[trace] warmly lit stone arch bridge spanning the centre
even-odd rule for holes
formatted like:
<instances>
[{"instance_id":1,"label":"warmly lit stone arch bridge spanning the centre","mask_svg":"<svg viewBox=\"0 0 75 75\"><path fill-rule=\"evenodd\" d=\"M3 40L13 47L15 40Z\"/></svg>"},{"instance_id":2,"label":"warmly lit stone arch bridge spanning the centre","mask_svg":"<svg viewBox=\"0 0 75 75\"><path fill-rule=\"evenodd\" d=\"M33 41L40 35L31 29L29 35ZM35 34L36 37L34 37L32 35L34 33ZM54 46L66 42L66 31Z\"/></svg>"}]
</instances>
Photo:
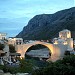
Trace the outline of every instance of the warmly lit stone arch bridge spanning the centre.
<instances>
[{"instance_id":1,"label":"warmly lit stone arch bridge spanning the centre","mask_svg":"<svg viewBox=\"0 0 75 75\"><path fill-rule=\"evenodd\" d=\"M55 61L59 59L61 52L59 47L55 46L54 44L47 43L47 42L41 42L41 41L35 41L33 43L27 43L27 44L22 44L22 45L16 45L16 51L17 53L21 54L21 57L25 56L26 51L33 45L41 44L46 46L50 52L51 52L51 60Z\"/></svg>"}]
</instances>

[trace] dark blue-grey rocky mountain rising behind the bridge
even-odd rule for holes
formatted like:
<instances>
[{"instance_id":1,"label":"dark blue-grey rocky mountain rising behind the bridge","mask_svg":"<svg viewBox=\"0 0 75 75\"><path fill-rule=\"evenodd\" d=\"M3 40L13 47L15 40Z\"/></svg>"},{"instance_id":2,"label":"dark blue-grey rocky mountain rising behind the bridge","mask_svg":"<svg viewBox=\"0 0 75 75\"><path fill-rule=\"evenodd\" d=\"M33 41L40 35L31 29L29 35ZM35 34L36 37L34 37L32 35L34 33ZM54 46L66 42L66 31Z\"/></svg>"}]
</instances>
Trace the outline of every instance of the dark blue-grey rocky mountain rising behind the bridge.
<instances>
[{"instance_id":1,"label":"dark blue-grey rocky mountain rising behind the bridge","mask_svg":"<svg viewBox=\"0 0 75 75\"><path fill-rule=\"evenodd\" d=\"M75 35L75 7L54 14L34 16L16 36L25 40L46 40L58 36L58 32L69 29Z\"/></svg>"}]
</instances>

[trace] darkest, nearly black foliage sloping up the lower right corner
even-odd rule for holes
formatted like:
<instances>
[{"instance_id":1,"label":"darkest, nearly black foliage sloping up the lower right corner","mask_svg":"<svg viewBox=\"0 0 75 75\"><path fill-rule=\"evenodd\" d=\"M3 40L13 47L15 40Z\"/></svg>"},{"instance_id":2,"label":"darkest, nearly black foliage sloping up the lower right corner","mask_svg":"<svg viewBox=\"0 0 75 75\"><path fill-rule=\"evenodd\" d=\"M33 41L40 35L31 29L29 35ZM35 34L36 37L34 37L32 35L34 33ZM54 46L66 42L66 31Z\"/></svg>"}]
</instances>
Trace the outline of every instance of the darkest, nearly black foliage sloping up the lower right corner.
<instances>
[{"instance_id":1,"label":"darkest, nearly black foliage sloping up the lower right corner","mask_svg":"<svg viewBox=\"0 0 75 75\"><path fill-rule=\"evenodd\" d=\"M62 60L32 72L32 75L75 75L75 56L65 56Z\"/></svg>"}]
</instances>

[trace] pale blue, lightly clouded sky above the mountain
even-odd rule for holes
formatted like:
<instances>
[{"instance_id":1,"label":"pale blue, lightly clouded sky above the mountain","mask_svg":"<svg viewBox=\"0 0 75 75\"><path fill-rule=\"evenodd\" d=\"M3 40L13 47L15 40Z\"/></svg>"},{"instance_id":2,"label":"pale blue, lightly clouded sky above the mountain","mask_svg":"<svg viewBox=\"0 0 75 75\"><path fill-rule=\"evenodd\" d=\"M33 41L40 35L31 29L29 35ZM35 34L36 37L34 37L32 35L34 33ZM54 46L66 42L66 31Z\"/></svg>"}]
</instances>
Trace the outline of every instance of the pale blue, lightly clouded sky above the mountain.
<instances>
[{"instance_id":1,"label":"pale blue, lightly clouded sky above the mountain","mask_svg":"<svg viewBox=\"0 0 75 75\"><path fill-rule=\"evenodd\" d=\"M0 0L0 32L14 37L38 14L53 14L75 6L75 0Z\"/></svg>"}]
</instances>

